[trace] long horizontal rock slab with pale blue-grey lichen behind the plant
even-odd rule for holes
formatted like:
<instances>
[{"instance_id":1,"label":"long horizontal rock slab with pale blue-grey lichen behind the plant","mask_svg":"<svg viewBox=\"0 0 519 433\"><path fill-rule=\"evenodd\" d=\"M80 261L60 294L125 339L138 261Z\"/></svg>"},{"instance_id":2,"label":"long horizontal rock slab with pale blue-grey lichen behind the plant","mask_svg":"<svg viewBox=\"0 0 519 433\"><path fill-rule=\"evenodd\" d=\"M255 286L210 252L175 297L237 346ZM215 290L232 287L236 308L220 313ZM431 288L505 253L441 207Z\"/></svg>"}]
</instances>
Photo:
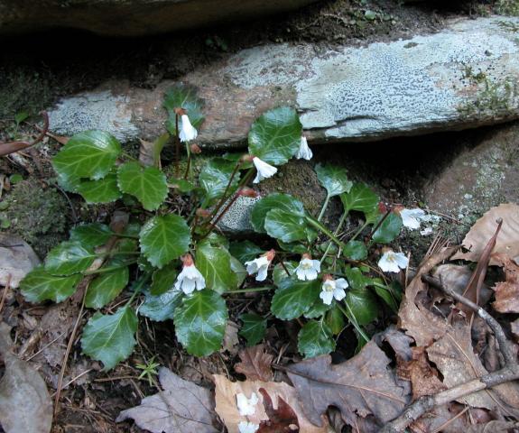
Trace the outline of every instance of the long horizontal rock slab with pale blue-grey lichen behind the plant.
<instances>
[{"instance_id":1,"label":"long horizontal rock slab with pale blue-grey lichen behind the plant","mask_svg":"<svg viewBox=\"0 0 519 433\"><path fill-rule=\"evenodd\" d=\"M519 117L517 28L519 18L490 17L366 47L265 45L181 81L196 86L206 101L199 143L207 146L243 145L255 117L281 104L298 107L310 143L460 130ZM126 140L152 139L163 131L162 95L171 84L150 91L108 83L62 101L51 112L51 128L74 134L109 127ZM99 105L107 113L102 122L95 115ZM79 123L69 120L78 117Z\"/></svg>"}]
</instances>

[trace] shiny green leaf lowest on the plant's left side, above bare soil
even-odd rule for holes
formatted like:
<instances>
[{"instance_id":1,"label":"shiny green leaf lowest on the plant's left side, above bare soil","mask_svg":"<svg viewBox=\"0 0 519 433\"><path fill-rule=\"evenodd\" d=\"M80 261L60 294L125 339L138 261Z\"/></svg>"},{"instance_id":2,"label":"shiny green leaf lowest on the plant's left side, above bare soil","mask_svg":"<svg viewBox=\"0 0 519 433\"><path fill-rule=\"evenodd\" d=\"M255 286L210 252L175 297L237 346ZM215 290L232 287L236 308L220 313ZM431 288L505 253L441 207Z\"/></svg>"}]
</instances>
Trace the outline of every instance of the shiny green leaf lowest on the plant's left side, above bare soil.
<instances>
[{"instance_id":1,"label":"shiny green leaf lowest on the plant's left side, above bare soil","mask_svg":"<svg viewBox=\"0 0 519 433\"><path fill-rule=\"evenodd\" d=\"M115 314L97 312L83 329L83 353L104 364L103 371L132 355L137 331L137 315L130 306L117 309Z\"/></svg>"}]
</instances>

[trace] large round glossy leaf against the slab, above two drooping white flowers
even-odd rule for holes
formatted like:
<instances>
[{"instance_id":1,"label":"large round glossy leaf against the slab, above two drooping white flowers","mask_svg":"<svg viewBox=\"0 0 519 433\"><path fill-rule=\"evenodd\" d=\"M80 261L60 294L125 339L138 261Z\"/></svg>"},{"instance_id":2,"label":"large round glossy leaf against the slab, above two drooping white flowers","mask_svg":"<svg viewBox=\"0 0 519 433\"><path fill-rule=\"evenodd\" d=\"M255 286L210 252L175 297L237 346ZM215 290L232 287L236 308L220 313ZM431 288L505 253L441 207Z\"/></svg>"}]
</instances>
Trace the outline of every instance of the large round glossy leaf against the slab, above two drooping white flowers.
<instances>
[{"instance_id":1,"label":"large round glossy leaf against the slab, above two drooping white flowers","mask_svg":"<svg viewBox=\"0 0 519 433\"><path fill-rule=\"evenodd\" d=\"M281 106L257 118L248 136L249 153L261 160L282 165L301 144L302 125L293 108Z\"/></svg>"}]
</instances>

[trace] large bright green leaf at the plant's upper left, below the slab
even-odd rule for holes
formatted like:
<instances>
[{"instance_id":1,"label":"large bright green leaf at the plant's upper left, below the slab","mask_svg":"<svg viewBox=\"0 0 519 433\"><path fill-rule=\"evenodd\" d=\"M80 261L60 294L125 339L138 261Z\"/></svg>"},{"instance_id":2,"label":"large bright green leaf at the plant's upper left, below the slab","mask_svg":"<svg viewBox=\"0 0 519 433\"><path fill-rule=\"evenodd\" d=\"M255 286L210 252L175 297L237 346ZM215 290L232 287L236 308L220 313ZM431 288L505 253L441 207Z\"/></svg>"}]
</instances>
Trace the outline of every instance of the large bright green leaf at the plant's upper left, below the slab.
<instances>
[{"instance_id":1,"label":"large bright green leaf at the plant's upper left, below the slab","mask_svg":"<svg viewBox=\"0 0 519 433\"><path fill-rule=\"evenodd\" d=\"M103 131L85 131L70 138L52 159L52 166L65 178L104 178L121 154L121 143Z\"/></svg>"}]
</instances>

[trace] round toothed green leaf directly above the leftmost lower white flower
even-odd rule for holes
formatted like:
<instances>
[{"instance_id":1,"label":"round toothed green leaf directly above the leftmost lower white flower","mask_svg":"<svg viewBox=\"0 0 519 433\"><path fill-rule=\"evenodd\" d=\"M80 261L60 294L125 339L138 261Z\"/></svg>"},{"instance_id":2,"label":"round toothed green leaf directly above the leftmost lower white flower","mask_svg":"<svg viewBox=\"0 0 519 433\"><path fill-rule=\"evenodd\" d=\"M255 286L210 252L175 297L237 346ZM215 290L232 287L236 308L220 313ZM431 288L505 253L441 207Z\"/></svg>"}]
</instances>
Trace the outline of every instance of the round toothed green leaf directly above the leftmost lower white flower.
<instances>
[{"instance_id":1,"label":"round toothed green leaf directly above the leftmost lower white flower","mask_svg":"<svg viewBox=\"0 0 519 433\"><path fill-rule=\"evenodd\" d=\"M139 235L141 251L157 268L162 268L187 253L190 247L190 227L178 215L153 217L144 224Z\"/></svg>"}]
</instances>

